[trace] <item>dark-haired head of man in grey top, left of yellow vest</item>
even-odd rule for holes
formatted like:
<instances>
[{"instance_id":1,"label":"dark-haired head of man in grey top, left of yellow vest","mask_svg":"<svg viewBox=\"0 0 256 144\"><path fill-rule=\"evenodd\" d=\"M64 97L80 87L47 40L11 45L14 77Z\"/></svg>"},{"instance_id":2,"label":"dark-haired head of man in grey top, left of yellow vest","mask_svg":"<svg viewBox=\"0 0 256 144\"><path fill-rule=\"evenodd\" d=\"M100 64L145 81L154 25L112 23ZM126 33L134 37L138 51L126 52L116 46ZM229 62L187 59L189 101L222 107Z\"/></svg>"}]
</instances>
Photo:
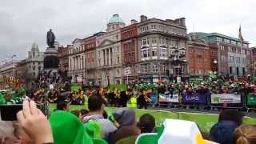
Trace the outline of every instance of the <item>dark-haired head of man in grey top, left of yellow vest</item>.
<instances>
[{"instance_id":1,"label":"dark-haired head of man in grey top, left of yellow vest","mask_svg":"<svg viewBox=\"0 0 256 144\"><path fill-rule=\"evenodd\" d=\"M103 99L100 96L92 95L88 99L88 109L90 112L99 111L103 113Z\"/></svg>"}]
</instances>

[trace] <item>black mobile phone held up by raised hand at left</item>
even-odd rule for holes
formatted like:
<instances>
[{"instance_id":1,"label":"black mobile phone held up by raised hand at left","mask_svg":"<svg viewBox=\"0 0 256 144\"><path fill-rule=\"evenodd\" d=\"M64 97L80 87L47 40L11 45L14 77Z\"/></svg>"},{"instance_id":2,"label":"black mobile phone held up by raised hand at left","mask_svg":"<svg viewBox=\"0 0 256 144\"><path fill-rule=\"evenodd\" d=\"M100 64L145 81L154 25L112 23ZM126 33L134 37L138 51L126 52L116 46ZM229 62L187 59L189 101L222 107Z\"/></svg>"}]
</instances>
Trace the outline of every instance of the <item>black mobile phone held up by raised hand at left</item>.
<instances>
[{"instance_id":1,"label":"black mobile phone held up by raised hand at left","mask_svg":"<svg viewBox=\"0 0 256 144\"><path fill-rule=\"evenodd\" d=\"M39 110L43 111L43 106L41 104L37 105ZM0 105L0 113L2 121L17 121L16 114L18 111L22 110L22 104L14 105Z\"/></svg>"}]
</instances>

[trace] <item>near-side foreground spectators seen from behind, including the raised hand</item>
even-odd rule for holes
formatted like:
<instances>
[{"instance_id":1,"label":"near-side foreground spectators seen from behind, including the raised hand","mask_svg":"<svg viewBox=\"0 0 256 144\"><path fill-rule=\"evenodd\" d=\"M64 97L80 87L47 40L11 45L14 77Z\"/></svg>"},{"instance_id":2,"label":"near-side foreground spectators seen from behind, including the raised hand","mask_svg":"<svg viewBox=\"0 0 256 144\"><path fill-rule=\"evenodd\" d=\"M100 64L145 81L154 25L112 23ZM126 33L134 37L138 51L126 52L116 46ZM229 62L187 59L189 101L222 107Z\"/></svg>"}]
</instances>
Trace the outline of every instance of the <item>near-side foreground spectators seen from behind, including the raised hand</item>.
<instances>
[{"instance_id":1,"label":"near-side foreground spectators seen from behind, including the raised hand","mask_svg":"<svg viewBox=\"0 0 256 144\"><path fill-rule=\"evenodd\" d=\"M157 129L151 114L137 118L134 110L126 107L107 114L104 106L104 100L98 95L89 98L88 110L69 112L68 104L62 101L47 119L34 101L26 100L17 114L18 122L13 124L14 138L2 138L2 143L129 144L135 143L138 135ZM221 144L256 143L256 126L244 125L243 116L237 110L223 110L210 134L204 134L204 138Z\"/></svg>"}]
</instances>

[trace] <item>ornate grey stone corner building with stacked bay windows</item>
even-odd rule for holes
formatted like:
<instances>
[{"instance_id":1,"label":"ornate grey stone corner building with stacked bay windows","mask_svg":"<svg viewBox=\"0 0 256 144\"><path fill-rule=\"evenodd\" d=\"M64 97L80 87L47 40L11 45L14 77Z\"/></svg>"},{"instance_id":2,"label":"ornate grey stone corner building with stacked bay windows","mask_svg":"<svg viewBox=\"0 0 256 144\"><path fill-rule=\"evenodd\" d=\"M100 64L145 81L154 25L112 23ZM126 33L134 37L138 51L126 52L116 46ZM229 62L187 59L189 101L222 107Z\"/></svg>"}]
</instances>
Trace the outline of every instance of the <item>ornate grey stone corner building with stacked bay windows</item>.
<instances>
[{"instance_id":1,"label":"ornate grey stone corner building with stacked bay windows","mask_svg":"<svg viewBox=\"0 0 256 144\"><path fill-rule=\"evenodd\" d=\"M185 58L185 54L185 18L161 20L141 16L141 22L138 23L137 66L140 79L147 82L158 82L159 79L167 81L168 71L175 75L186 73L185 66L173 65L174 60L176 62Z\"/></svg>"}]
</instances>

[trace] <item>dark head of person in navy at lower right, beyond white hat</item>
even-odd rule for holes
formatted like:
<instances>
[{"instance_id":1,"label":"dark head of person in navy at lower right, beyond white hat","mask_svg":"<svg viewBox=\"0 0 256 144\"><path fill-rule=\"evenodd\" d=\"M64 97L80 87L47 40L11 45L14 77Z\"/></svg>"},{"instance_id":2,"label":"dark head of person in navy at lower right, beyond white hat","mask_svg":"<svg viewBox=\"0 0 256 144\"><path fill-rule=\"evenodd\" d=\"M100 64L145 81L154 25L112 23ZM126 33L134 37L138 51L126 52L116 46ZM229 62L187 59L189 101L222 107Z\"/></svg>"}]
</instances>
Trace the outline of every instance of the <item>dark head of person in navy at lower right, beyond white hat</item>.
<instances>
[{"instance_id":1,"label":"dark head of person in navy at lower right, beyond white hat","mask_svg":"<svg viewBox=\"0 0 256 144\"><path fill-rule=\"evenodd\" d=\"M242 124L243 114L238 110L228 109L223 110L221 114L219 114L218 122L221 121L233 121L240 126Z\"/></svg>"}]
</instances>

